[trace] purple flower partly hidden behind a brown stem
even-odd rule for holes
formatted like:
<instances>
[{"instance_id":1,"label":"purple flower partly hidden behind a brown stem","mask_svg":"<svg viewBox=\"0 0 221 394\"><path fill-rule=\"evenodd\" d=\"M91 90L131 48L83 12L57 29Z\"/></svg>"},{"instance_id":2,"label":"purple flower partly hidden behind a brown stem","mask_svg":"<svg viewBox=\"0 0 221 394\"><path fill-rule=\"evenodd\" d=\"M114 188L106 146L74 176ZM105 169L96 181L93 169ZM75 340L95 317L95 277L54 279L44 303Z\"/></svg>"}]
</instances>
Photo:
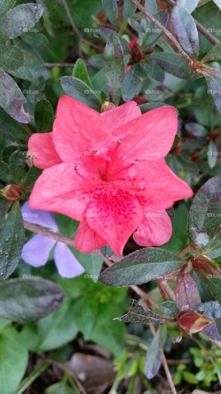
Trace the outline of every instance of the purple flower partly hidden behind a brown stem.
<instances>
[{"instance_id":1,"label":"purple flower partly hidden behind a brown stem","mask_svg":"<svg viewBox=\"0 0 221 394\"><path fill-rule=\"evenodd\" d=\"M31 209L28 201L23 204L21 210L22 216L27 222L46 227L53 232L59 232L52 212ZM41 234L33 236L24 244L22 260L32 267L44 266L54 245L55 265L63 278L73 278L85 271L65 243L57 242Z\"/></svg>"}]
</instances>

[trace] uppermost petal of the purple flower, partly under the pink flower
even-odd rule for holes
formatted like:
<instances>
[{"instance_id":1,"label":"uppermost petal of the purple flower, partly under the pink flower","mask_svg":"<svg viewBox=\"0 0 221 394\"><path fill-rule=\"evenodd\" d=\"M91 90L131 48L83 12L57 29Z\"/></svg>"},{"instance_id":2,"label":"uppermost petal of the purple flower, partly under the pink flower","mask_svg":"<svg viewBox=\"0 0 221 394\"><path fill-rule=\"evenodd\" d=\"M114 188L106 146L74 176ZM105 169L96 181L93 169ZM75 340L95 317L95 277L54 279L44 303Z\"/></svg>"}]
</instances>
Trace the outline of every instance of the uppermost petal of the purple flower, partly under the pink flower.
<instances>
[{"instance_id":1,"label":"uppermost petal of the purple flower, partly under the pink flower","mask_svg":"<svg viewBox=\"0 0 221 394\"><path fill-rule=\"evenodd\" d=\"M31 209L28 201L22 205L21 211L23 219L28 223L38 224L40 226L47 227L52 231L58 231L53 212Z\"/></svg>"}]
</instances>

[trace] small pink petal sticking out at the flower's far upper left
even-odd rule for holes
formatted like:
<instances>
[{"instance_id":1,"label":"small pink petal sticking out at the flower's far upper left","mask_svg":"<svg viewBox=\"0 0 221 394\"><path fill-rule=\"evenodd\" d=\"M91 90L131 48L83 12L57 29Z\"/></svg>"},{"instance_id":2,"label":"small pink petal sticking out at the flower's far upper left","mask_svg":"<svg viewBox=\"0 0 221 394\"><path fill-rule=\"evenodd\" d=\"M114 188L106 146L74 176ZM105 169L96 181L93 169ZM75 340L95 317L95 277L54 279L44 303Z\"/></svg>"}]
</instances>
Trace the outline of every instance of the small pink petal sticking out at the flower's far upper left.
<instances>
[{"instance_id":1,"label":"small pink petal sticking out at the flower's far upper left","mask_svg":"<svg viewBox=\"0 0 221 394\"><path fill-rule=\"evenodd\" d=\"M33 164L38 168L48 168L52 165L62 163L58 156L51 133L36 133L28 140L30 154L35 156Z\"/></svg>"}]
</instances>

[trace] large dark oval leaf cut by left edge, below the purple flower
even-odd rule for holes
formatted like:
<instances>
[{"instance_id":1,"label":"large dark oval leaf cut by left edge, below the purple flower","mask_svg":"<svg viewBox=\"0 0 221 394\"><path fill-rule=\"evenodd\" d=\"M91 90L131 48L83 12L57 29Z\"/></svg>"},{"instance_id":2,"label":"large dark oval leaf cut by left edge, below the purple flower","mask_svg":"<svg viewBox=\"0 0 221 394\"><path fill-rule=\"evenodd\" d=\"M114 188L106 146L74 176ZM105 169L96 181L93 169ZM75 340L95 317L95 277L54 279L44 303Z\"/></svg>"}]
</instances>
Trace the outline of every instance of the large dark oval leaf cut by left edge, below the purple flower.
<instances>
[{"instance_id":1,"label":"large dark oval leaf cut by left edge, below the purple flower","mask_svg":"<svg viewBox=\"0 0 221 394\"><path fill-rule=\"evenodd\" d=\"M63 290L45 279L9 279L0 283L0 318L29 322L56 310L64 297Z\"/></svg>"}]
</instances>

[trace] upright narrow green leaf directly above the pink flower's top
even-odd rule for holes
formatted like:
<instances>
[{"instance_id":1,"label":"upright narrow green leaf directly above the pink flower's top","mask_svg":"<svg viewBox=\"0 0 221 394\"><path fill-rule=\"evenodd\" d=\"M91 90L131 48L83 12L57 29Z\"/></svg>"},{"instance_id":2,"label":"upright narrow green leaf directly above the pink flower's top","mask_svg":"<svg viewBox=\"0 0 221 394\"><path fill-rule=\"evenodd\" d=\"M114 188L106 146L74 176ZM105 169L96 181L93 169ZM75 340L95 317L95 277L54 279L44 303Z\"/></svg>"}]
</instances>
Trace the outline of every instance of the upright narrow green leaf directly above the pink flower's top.
<instances>
[{"instance_id":1,"label":"upright narrow green leaf directly above the pink flower's top","mask_svg":"<svg viewBox=\"0 0 221 394\"><path fill-rule=\"evenodd\" d=\"M111 34L104 50L104 72L110 101L116 106L120 101L125 72L123 50L119 39Z\"/></svg>"}]
</instances>

